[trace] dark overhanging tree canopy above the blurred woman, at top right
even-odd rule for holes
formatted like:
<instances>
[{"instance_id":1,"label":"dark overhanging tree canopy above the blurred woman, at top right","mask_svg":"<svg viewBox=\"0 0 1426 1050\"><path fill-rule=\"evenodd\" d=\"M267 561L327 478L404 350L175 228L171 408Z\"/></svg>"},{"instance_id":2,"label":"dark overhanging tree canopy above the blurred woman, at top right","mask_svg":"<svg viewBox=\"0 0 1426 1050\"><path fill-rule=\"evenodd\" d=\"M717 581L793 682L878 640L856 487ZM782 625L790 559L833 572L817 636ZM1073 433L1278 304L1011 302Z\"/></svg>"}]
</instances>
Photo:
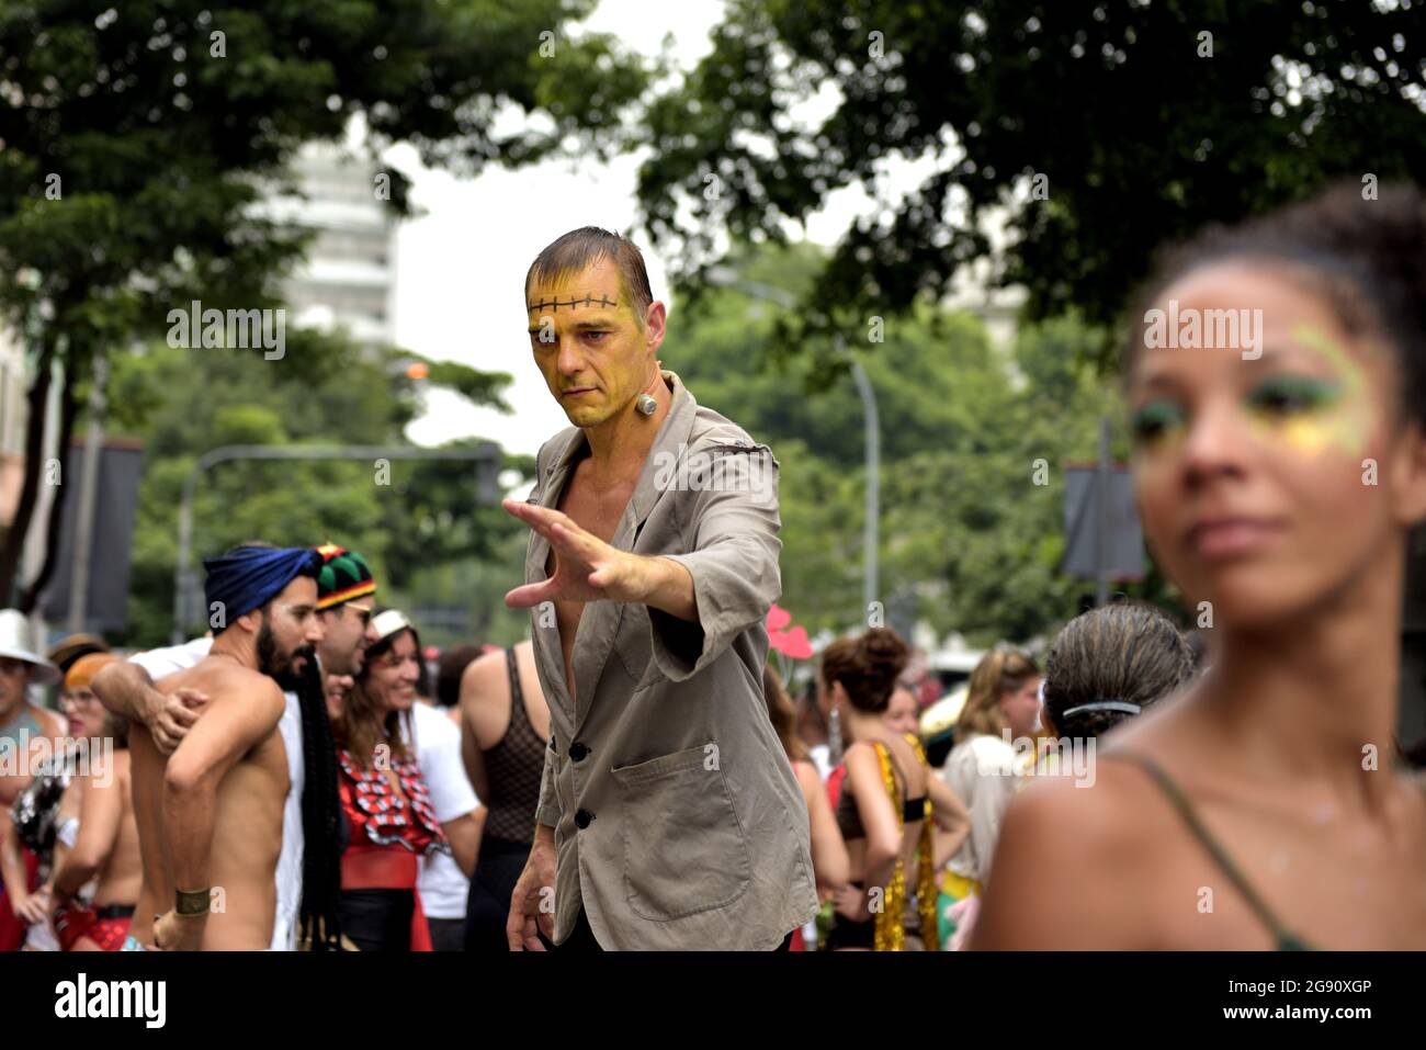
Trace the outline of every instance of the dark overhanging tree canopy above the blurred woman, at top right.
<instances>
[{"instance_id":1,"label":"dark overhanging tree canopy above the blurred woman, at top right","mask_svg":"<svg viewBox=\"0 0 1426 1050\"><path fill-rule=\"evenodd\" d=\"M649 107L642 214L696 288L729 235L784 241L864 188L783 320L791 348L937 301L1001 207L1030 314L1108 322L1164 241L1329 177L1426 170L1420 30L1419 0L730 0ZM890 200L907 160L928 174Z\"/></svg>"}]
</instances>

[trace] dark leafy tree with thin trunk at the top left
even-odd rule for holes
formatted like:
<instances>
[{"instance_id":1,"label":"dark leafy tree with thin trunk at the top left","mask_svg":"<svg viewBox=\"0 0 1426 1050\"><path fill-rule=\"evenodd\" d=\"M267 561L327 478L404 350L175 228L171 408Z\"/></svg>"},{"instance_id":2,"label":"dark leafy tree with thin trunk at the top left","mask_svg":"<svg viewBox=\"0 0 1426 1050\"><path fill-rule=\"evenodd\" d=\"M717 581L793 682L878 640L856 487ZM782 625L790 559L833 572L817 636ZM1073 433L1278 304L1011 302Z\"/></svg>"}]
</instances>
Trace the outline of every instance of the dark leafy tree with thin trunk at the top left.
<instances>
[{"instance_id":1,"label":"dark leafy tree with thin trunk at the top left","mask_svg":"<svg viewBox=\"0 0 1426 1050\"><path fill-rule=\"evenodd\" d=\"M568 37L593 7L0 4L0 322L37 351L0 601L36 504L51 367L64 365L64 447L96 348L161 331L167 311L191 298L220 310L275 305L274 281L304 234L254 204L274 187L295 188L288 164L298 147L341 138L358 114L374 151L409 141L426 163L469 173L575 146L612 148L646 70L607 36ZM512 106L535 118L498 134L495 118ZM408 180L386 174L389 195L374 187L374 197L405 213ZM224 425L265 422L248 412Z\"/></svg>"}]
</instances>

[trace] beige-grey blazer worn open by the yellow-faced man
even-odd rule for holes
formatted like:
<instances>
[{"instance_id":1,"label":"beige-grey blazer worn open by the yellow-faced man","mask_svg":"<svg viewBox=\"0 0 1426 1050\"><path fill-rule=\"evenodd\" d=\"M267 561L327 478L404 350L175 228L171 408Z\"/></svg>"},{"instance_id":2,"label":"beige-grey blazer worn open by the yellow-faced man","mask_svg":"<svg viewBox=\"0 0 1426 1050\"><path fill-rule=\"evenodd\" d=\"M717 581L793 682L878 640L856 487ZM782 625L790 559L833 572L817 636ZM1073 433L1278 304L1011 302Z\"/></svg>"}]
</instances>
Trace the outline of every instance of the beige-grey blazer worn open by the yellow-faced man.
<instances>
[{"instance_id":1,"label":"beige-grey blazer worn open by the yellow-faced man","mask_svg":"<svg viewBox=\"0 0 1426 1050\"><path fill-rule=\"evenodd\" d=\"M553 608L532 609L549 700L538 820L555 827L555 943L583 907L609 949L777 947L817 912L807 806L763 700L779 596L777 461L700 408L677 375L613 545L682 562L699 622L590 602L575 696ZM529 502L556 506L586 454L570 427L539 451ZM530 534L525 581L548 578Z\"/></svg>"}]
</instances>

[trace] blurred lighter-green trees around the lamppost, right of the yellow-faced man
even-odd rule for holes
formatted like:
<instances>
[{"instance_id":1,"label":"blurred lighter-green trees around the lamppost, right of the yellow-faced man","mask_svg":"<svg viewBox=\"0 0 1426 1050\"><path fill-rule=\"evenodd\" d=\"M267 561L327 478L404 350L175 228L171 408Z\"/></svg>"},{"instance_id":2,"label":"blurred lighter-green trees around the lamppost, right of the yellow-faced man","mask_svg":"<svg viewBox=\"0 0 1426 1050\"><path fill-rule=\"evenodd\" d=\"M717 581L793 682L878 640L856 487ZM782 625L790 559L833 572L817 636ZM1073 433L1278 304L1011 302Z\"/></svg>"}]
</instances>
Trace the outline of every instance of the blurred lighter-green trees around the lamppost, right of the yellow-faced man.
<instances>
[{"instance_id":1,"label":"blurred lighter-green trees around the lamppost, right of the yellow-faced man","mask_svg":"<svg viewBox=\"0 0 1426 1050\"><path fill-rule=\"evenodd\" d=\"M743 275L781 274L777 285L797 291L816 260L804 245L766 250ZM742 291L710 291L673 314L660 357L700 404L771 445L781 468L780 603L811 631L844 631L867 618L861 402L846 371L829 384L813 355L773 352L780 312ZM1124 434L1118 391L1092 365L1104 330L1062 318L997 350L973 317L921 307L887 320L884 338L853 350L881 418L883 603L910 598L938 635L971 643L1055 629L1094 591L1060 572L1065 468L1094 462L1101 415ZM1114 452L1122 459L1128 448ZM1156 576L1122 589L1166 598Z\"/></svg>"}]
</instances>

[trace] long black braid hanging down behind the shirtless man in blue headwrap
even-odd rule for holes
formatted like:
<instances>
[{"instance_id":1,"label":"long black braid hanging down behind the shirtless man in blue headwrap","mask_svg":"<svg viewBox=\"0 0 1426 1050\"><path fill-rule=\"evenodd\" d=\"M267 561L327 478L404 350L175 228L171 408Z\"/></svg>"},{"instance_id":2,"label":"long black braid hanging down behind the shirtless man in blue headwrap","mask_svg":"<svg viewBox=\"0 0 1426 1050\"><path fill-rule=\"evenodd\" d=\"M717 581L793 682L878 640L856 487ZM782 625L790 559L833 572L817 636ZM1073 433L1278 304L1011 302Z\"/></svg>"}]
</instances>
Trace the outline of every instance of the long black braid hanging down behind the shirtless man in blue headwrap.
<instances>
[{"instance_id":1,"label":"long black braid hanging down behind the shirtless man in blue headwrap","mask_svg":"<svg viewBox=\"0 0 1426 1050\"><path fill-rule=\"evenodd\" d=\"M302 909L298 924L301 940L312 952L341 947L342 920L338 910L342 889L342 807L337 793L337 742L327 716L322 669L315 659L302 668L297 690L302 709Z\"/></svg>"}]
</instances>

